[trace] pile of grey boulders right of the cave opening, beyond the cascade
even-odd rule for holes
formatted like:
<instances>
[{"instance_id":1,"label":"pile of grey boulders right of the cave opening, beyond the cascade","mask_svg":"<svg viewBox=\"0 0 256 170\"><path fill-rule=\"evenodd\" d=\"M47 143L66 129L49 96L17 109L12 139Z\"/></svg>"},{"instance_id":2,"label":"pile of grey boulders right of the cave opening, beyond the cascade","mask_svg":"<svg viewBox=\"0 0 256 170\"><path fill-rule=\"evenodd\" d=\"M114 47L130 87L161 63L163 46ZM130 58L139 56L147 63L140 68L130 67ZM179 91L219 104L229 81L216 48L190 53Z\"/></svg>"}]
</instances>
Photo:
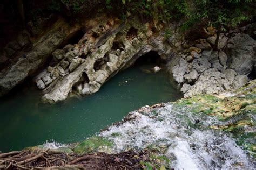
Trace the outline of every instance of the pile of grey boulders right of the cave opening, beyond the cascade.
<instances>
[{"instance_id":1,"label":"pile of grey boulders right of the cave opening, beyond the cascade","mask_svg":"<svg viewBox=\"0 0 256 170\"><path fill-rule=\"evenodd\" d=\"M213 50L214 27L204 29L205 39L183 43L184 50L171 59L169 67L174 80L183 84L184 97L219 94L243 86L248 75L254 79L256 41L243 32L246 27L220 34L218 51Z\"/></svg>"}]
</instances>

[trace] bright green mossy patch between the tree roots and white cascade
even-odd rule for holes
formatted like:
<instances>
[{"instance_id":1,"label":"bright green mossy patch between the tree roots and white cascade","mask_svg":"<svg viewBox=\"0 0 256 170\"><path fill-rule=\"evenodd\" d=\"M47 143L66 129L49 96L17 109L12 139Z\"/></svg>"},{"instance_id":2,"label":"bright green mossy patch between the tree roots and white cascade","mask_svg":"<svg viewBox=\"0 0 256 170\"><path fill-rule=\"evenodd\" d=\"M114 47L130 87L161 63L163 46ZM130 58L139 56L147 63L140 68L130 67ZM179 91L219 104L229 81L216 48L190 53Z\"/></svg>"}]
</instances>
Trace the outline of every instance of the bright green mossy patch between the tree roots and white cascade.
<instances>
[{"instance_id":1,"label":"bright green mossy patch between the tree roots and white cascade","mask_svg":"<svg viewBox=\"0 0 256 170\"><path fill-rule=\"evenodd\" d=\"M102 150L102 148L111 148L113 145L114 143L109 139L95 136L82 141L82 143L76 146L73 151L77 154L91 153Z\"/></svg>"}]
</instances>

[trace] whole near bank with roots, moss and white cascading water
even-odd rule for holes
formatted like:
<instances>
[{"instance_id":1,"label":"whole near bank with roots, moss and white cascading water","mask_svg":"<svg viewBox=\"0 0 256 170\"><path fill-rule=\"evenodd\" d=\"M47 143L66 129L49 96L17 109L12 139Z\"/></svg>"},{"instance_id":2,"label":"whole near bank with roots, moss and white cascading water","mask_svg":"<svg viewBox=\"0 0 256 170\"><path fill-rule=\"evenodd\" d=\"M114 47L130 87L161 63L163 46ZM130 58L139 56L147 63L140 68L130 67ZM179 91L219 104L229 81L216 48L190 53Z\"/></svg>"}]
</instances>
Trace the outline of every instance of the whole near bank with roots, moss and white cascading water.
<instances>
[{"instance_id":1,"label":"whole near bank with roots, moss and white cascading water","mask_svg":"<svg viewBox=\"0 0 256 170\"><path fill-rule=\"evenodd\" d=\"M27 167L254 167L255 95L256 82L250 81L219 96L145 106L81 143L2 153L1 167L6 160L20 168L23 161Z\"/></svg>"}]
</instances>

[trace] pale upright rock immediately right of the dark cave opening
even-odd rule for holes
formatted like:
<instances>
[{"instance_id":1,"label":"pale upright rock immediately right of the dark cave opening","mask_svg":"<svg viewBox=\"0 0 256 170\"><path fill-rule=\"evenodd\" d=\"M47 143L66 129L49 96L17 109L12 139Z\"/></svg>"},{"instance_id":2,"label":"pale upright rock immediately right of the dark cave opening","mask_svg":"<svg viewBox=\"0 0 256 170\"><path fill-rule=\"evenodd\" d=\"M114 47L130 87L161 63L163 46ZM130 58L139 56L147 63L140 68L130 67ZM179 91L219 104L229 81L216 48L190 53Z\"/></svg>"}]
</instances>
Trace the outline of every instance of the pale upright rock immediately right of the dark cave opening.
<instances>
[{"instance_id":1,"label":"pale upright rock immediately right of the dark cave opening","mask_svg":"<svg viewBox=\"0 0 256 170\"><path fill-rule=\"evenodd\" d=\"M173 77L178 83L182 83L184 81L183 76L186 73L187 67L188 62L183 58L180 58L178 65L172 68Z\"/></svg>"}]
</instances>

